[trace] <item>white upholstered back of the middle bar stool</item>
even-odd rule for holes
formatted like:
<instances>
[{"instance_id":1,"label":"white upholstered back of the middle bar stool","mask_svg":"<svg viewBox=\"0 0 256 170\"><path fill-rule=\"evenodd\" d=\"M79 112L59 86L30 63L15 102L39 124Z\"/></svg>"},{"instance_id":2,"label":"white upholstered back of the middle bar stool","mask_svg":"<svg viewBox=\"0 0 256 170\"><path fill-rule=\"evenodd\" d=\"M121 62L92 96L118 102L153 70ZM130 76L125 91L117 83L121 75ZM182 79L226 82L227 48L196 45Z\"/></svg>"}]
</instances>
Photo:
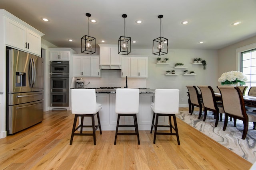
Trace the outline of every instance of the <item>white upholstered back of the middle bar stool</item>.
<instances>
[{"instance_id":1,"label":"white upholstered back of the middle bar stool","mask_svg":"<svg viewBox=\"0 0 256 170\"><path fill-rule=\"evenodd\" d=\"M116 89L116 113L139 113L139 93L138 88Z\"/></svg>"}]
</instances>

